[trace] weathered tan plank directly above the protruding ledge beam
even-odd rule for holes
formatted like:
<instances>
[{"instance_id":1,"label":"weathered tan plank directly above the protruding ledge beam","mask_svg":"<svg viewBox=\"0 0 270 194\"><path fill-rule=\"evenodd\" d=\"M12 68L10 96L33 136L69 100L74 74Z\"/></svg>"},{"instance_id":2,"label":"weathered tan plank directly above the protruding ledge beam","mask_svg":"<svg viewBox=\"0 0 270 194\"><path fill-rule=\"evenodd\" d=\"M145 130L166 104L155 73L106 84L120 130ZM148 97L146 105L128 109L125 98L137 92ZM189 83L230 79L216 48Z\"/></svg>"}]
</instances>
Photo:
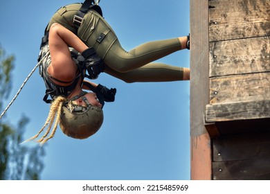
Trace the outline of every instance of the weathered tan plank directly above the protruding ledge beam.
<instances>
[{"instance_id":1,"label":"weathered tan plank directly above the protruding ledge beam","mask_svg":"<svg viewBox=\"0 0 270 194\"><path fill-rule=\"evenodd\" d=\"M270 72L210 78L210 104L270 99Z\"/></svg>"}]
</instances>

